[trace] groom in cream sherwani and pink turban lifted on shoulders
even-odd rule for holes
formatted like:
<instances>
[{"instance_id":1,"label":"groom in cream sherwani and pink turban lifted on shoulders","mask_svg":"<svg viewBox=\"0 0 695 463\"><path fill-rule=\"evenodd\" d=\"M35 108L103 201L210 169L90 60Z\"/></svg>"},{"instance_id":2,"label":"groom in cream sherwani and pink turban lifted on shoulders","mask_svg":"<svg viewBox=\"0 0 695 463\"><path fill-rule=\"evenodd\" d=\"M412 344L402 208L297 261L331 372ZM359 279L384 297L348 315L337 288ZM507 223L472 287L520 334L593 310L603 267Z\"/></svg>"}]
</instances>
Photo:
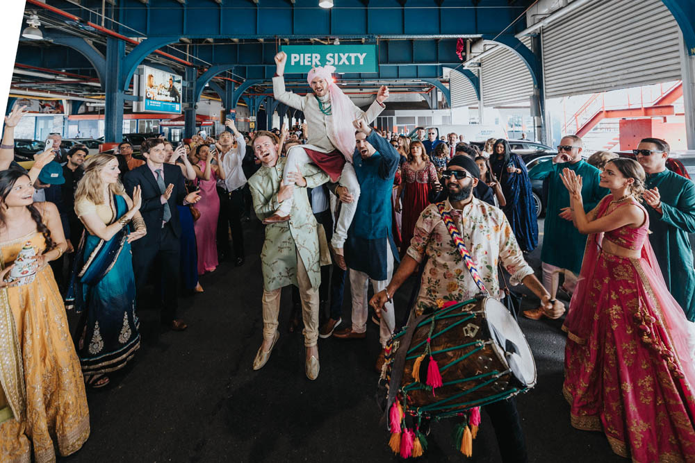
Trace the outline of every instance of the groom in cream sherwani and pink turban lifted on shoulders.
<instances>
[{"instance_id":1,"label":"groom in cream sherwani and pink turban lifted on shoulders","mask_svg":"<svg viewBox=\"0 0 695 463\"><path fill-rule=\"evenodd\" d=\"M320 167L334 183L347 190L352 195L352 203L341 204L341 213L336 223L336 230L331 240L336 263L345 269L343 257L343 244L347 239L347 229L350 228L352 217L357 208L359 199L359 183L352 167L352 153L354 153L354 122L364 119L370 124L384 110L384 101L389 98L389 89L385 86L379 88L377 99L363 112L350 101L333 82L333 66L312 68L306 81L309 82L313 94L300 96L285 90L285 81L282 76L287 62L284 51L275 55L277 65L275 77L272 78L272 92L277 101L304 112L307 126L307 143L293 146L287 153L287 162L283 173L285 185L294 183L288 178L288 173L300 171L302 165L313 163ZM347 160L347 162L346 162ZM263 221L264 224L288 221L292 208L292 198L282 201L275 214Z\"/></svg>"}]
</instances>

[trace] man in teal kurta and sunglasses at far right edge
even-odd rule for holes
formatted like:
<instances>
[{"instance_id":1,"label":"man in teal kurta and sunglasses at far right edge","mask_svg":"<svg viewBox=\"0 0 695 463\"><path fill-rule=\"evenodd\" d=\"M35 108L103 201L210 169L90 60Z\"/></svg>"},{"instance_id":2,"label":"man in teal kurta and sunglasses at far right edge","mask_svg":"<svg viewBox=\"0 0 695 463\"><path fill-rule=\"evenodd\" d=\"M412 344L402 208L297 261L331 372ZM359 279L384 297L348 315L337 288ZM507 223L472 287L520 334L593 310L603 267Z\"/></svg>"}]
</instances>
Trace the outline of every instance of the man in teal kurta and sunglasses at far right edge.
<instances>
[{"instance_id":1,"label":"man in teal kurta and sunglasses at far right edge","mask_svg":"<svg viewBox=\"0 0 695 463\"><path fill-rule=\"evenodd\" d=\"M644 138L634 153L647 174L649 242L671 295L687 319L695 321L695 270L688 239L695 233L695 184L666 168L670 150L664 140Z\"/></svg>"}]
</instances>

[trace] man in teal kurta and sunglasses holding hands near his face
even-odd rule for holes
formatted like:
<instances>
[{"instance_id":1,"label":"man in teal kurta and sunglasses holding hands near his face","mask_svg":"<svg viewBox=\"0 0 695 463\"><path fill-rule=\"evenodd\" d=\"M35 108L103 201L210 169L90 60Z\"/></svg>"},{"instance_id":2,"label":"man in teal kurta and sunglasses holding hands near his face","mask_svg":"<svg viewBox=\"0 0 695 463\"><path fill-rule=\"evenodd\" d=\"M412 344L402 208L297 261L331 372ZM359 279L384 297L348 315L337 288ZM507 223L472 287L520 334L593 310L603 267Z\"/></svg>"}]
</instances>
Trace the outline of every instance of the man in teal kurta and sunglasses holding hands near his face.
<instances>
[{"instance_id":1,"label":"man in teal kurta and sunglasses holding hands near his face","mask_svg":"<svg viewBox=\"0 0 695 463\"><path fill-rule=\"evenodd\" d=\"M608 194L608 190L598 186L600 171L582 160L582 139L576 135L562 137L557 147L557 156L553 160L541 162L528 172L532 180L548 178L548 209L543 224L543 249L541 250L541 267L543 269L543 287L551 298L557 295L559 273L564 273L564 289L571 293L577 284L577 276L582 269L586 235L579 233L572 223L569 209L569 192L562 184L562 169L571 169L582 176L582 199L587 212L596 207L598 202ZM540 319L543 310L525 310L525 317Z\"/></svg>"}]
</instances>

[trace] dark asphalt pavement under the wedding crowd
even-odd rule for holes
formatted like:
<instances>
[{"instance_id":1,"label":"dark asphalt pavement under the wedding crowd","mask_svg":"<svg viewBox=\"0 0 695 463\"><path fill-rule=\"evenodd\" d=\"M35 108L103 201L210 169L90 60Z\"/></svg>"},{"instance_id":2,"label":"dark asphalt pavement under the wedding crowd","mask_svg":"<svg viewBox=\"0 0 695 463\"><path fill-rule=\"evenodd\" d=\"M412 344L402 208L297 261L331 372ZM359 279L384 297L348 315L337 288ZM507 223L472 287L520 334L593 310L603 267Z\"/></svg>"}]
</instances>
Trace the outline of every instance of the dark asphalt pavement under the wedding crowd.
<instances>
[{"instance_id":1,"label":"dark asphalt pavement under the wedding crowd","mask_svg":"<svg viewBox=\"0 0 695 463\"><path fill-rule=\"evenodd\" d=\"M541 224L542 230L542 224ZM541 236L542 239L542 236ZM263 227L245 224L243 267L230 262L201 278L203 294L181 298L185 332L163 331L140 309L142 347L105 389L88 391L91 436L65 462L395 462L375 402L378 328L366 339L320 339L320 375L304 376L300 332L287 332L291 291L282 292L280 338L268 364L252 370L261 343ZM539 250L529 261L540 276ZM348 283L349 284L349 283ZM397 319L413 281L395 296ZM170 290L177 290L172 284ZM537 301L525 299L525 308ZM343 326L350 326L345 290ZM72 316L70 316L71 321ZM621 462L603 434L575 430L562 397L565 337L559 321L520 320L538 382L518 396L530 462ZM433 425L421 462L499 462L489 419L467 459L452 446L452 423ZM505 443L500 443L505 445Z\"/></svg>"}]
</instances>

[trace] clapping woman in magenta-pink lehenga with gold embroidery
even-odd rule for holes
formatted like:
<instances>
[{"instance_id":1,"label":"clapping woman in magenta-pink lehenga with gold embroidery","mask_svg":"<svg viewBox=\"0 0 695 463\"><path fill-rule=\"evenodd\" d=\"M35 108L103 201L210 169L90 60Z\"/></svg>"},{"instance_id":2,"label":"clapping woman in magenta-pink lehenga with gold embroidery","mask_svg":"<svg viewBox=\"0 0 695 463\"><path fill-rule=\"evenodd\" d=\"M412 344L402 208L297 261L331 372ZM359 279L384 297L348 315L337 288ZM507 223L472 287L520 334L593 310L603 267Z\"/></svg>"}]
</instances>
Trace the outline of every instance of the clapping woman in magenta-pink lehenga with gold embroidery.
<instances>
[{"instance_id":1,"label":"clapping woman in magenta-pink lehenga with gold embroidery","mask_svg":"<svg viewBox=\"0 0 695 463\"><path fill-rule=\"evenodd\" d=\"M562 326L563 392L572 426L603 430L613 451L633 462L695 462L694 324L664 283L639 204L644 170L607 163L610 188L589 214L582 180L564 169L577 228L589 234L580 282Z\"/></svg>"}]
</instances>

